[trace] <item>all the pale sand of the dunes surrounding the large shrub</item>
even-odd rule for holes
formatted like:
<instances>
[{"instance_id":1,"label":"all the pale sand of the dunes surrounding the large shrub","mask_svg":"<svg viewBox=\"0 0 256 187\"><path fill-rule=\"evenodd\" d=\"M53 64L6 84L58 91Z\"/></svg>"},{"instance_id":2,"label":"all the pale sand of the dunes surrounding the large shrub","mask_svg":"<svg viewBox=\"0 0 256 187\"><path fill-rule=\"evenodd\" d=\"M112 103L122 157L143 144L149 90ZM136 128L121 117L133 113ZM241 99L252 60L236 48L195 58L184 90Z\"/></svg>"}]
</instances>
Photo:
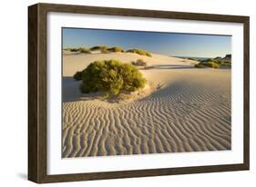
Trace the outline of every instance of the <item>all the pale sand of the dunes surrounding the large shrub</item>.
<instances>
[{"instance_id":1,"label":"all the pale sand of the dunes surrounding the large shrub","mask_svg":"<svg viewBox=\"0 0 256 187\"><path fill-rule=\"evenodd\" d=\"M142 59L151 94L128 103L84 98L72 76L96 60ZM162 54L63 55L62 156L230 150L230 69Z\"/></svg>"}]
</instances>

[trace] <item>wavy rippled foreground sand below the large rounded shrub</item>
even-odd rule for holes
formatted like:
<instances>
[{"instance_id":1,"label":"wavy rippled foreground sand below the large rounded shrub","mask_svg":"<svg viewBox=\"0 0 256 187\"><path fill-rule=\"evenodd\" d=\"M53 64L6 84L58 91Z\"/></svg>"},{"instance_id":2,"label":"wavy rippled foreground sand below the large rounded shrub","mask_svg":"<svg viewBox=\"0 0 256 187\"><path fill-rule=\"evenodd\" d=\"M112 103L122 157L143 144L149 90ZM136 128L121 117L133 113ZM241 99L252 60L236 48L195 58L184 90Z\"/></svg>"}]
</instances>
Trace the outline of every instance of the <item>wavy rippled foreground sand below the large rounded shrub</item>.
<instances>
[{"instance_id":1,"label":"wavy rippled foreground sand below the large rounded shrub","mask_svg":"<svg viewBox=\"0 0 256 187\"><path fill-rule=\"evenodd\" d=\"M231 149L230 87L174 83L134 103L63 103L63 157Z\"/></svg>"}]
</instances>

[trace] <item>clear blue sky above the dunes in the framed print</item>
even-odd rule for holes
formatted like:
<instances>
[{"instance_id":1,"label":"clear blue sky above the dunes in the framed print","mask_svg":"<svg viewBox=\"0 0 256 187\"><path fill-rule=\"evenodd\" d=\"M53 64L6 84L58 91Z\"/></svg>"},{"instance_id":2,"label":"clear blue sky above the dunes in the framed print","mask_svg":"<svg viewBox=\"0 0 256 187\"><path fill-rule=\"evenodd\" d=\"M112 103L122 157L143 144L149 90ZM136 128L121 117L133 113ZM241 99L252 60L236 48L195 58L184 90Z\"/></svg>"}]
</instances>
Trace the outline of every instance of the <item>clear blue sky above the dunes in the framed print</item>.
<instances>
[{"instance_id":1,"label":"clear blue sky above the dunes in the framed print","mask_svg":"<svg viewBox=\"0 0 256 187\"><path fill-rule=\"evenodd\" d=\"M216 57L231 54L231 36L63 28L63 48L118 45L151 53Z\"/></svg>"}]
</instances>

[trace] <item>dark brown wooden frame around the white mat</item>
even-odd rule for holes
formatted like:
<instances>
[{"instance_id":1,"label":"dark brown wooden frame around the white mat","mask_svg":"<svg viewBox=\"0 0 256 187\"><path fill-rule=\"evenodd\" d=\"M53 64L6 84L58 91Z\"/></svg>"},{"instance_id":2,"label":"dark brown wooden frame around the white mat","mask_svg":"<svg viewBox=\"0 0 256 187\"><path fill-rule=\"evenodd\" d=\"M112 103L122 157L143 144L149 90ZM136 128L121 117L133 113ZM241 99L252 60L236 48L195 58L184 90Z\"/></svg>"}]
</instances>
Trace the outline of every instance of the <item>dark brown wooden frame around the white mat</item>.
<instances>
[{"instance_id":1,"label":"dark brown wooden frame around the white mat","mask_svg":"<svg viewBox=\"0 0 256 187\"><path fill-rule=\"evenodd\" d=\"M207 165L179 168L155 168L147 170L121 172L87 172L49 175L47 168L46 139L46 15L49 12L89 14L89 15L123 15L134 17L153 17L177 20L217 21L241 23L243 25L243 68L244 68L244 109L243 109L243 162L238 164ZM28 180L38 183L74 182L99 179L116 179L128 177L146 177L156 175L187 174L200 172L228 172L249 170L250 165L250 131L249 131L249 33L248 16L209 15L155 10L138 10L125 8L96 7L84 5L36 4L28 7Z\"/></svg>"}]
</instances>

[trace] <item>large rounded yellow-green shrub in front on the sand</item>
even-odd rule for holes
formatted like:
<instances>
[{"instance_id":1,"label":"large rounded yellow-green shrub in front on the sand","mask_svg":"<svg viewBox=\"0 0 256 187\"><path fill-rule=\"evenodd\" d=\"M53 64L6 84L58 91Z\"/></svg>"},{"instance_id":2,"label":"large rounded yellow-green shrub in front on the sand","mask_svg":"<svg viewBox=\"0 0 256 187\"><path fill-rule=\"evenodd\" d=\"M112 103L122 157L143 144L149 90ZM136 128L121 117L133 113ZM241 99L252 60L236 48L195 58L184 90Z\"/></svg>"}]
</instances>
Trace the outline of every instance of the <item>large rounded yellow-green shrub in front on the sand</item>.
<instances>
[{"instance_id":1,"label":"large rounded yellow-green shrub in front on the sand","mask_svg":"<svg viewBox=\"0 0 256 187\"><path fill-rule=\"evenodd\" d=\"M79 74L77 73L77 77ZM89 64L81 72L81 79L80 91L82 93L102 91L105 98L108 98L110 94L134 92L146 84L146 79L138 71L138 68L116 60L95 61Z\"/></svg>"}]
</instances>

